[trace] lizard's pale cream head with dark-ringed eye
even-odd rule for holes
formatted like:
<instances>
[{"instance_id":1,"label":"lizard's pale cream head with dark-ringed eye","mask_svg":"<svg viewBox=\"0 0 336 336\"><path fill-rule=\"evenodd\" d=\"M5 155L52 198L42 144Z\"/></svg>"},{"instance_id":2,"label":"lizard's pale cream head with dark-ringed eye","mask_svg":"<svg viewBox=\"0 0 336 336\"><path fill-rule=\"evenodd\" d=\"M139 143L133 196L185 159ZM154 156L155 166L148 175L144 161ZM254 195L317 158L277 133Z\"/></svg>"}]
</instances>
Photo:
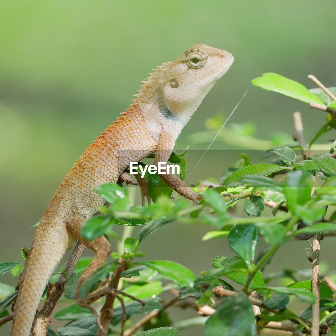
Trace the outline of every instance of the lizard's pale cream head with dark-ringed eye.
<instances>
[{"instance_id":1,"label":"lizard's pale cream head with dark-ringed eye","mask_svg":"<svg viewBox=\"0 0 336 336\"><path fill-rule=\"evenodd\" d=\"M175 115L196 111L212 86L234 61L225 50L195 44L174 59L163 78L163 93L169 111Z\"/></svg>"}]
</instances>

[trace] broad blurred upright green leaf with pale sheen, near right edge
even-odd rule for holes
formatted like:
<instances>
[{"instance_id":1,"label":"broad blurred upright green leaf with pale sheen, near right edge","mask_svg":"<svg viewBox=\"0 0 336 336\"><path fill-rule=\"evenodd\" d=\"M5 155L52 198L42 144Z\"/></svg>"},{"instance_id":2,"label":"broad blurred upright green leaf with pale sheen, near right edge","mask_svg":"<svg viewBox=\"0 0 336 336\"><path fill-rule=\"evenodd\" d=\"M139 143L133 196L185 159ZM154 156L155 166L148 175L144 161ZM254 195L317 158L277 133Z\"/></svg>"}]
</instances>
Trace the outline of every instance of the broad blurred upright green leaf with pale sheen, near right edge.
<instances>
[{"instance_id":1,"label":"broad blurred upright green leaf with pale sheen, near right edge","mask_svg":"<svg viewBox=\"0 0 336 336\"><path fill-rule=\"evenodd\" d=\"M284 182L284 194L287 207L295 213L297 205L303 205L310 199L311 187L307 184L310 174L304 170L295 170L287 174Z\"/></svg>"}]
</instances>

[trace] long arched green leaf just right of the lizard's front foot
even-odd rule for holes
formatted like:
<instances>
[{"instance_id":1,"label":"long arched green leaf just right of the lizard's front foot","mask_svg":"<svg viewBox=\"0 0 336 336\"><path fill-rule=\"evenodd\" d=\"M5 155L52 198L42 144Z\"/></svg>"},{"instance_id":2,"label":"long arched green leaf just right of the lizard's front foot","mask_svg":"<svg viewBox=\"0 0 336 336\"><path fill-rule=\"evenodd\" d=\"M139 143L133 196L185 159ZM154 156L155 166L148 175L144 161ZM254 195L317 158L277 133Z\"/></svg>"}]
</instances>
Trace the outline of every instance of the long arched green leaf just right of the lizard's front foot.
<instances>
[{"instance_id":1,"label":"long arched green leaf just right of the lizard's front foot","mask_svg":"<svg viewBox=\"0 0 336 336\"><path fill-rule=\"evenodd\" d=\"M277 165L274 163L257 163L254 165L245 166L235 170L225 180L224 187L238 187L244 184L241 179L246 175L268 176L276 171L287 169L287 166Z\"/></svg>"}]
</instances>

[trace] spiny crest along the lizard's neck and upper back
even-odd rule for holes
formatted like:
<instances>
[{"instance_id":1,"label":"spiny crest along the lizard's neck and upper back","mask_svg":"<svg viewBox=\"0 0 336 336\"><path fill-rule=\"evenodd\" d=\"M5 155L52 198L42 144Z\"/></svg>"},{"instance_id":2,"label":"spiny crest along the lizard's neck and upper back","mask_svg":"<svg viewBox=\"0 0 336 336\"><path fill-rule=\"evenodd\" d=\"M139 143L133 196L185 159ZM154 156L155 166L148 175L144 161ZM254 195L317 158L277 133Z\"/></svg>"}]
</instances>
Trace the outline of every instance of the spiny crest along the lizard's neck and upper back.
<instances>
[{"instance_id":1,"label":"spiny crest along the lizard's neck and upper back","mask_svg":"<svg viewBox=\"0 0 336 336\"><path fill-rule=\"evenodd\" d=\"M133 103L130 104L130 108L128 108L125 112L121 112L122 116L117 117L117 120L114 120L108 128L106 128L103 132L101 132L100 135L97 136L97 138L89 145L89 147L86 149L86 151L90 150L92 148L92 146L94 146L95 143L100 141L106 133L111 131L111 129L113 127L115 127L116 125L121 123L121 121L125 117L130 115L133 112L134 108L137 107L138 103L143 102L144 99L148 99L151 94L154 94L155 88L157 87L157 85L159 83L162 82L163 75L166 72L170 63L171 62L165 62L165 63L159 65L157 68L153 69L153 71L155 71L155 72L150 73L149 74L150 76L148 78L146 78L144 81L142 81L142 83L144 83L144 84L140 85L141 89L137 90L137 92L139 92L139 93L135 94L136 98L132 99ZM146 102L148 102L148 101L146 101ZM85 152L83 154L85 154Z\"/></svg>"}]
</instances>

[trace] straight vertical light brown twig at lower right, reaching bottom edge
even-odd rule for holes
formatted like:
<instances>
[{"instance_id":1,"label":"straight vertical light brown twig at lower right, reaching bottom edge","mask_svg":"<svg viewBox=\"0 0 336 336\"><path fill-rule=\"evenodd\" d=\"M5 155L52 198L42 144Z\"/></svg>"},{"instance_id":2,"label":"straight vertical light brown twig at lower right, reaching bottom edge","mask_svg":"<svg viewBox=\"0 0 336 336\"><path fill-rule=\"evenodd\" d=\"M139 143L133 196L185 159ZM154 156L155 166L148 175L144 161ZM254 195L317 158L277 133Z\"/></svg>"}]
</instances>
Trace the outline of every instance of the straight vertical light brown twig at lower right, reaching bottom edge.
<instances>
[{"instance_id":1,"label":"straight vertical light brown twig at lower right, reaching bottom edge","mask_svg":"<svg viewBox=\"0 0 336 336\"><path fill-rule=\"evenodd\" d=\"M316 303L311 306L312 320L311 320L311 336L320 335L320 281L319 281L319 257L320 257L320 240L321 235L314 235L311 259L311 281L312 293L316 296Z\"/></svg>"}]
</instances>

